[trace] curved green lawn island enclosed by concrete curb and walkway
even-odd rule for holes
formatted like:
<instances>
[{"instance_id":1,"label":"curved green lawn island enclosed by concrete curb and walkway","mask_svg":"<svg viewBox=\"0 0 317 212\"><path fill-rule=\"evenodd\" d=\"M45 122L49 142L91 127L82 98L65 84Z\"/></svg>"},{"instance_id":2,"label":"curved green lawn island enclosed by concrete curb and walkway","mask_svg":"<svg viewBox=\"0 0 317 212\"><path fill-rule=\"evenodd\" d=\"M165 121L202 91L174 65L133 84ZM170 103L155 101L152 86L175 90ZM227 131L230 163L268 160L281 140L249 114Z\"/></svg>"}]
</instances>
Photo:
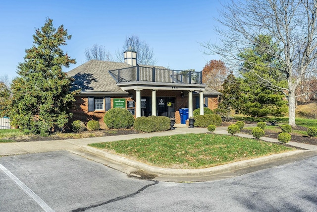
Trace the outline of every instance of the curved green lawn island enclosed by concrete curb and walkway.
<instances>
[{"instance_id":1,"label":"curved green lawn island enclosed by concrete curb and walkway","mask_svg":"<svg viewBox=\"0 0 317 212\"><path fill-rule=\"evenodd\" d=\"M215 134L153 137L93 143L90 146L169 168L206 168L294 150L275 143Z\"/></svg>"}]
</instances>

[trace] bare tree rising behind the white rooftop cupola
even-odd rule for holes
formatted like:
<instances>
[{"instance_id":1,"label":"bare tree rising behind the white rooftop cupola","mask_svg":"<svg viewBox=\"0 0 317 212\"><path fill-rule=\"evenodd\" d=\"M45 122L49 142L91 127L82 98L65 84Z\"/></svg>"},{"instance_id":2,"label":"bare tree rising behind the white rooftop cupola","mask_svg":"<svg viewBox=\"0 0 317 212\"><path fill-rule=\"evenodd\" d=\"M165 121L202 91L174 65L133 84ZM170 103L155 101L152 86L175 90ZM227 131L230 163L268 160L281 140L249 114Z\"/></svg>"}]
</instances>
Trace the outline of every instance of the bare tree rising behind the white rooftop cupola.
<instances>
[{"instance_id":1,"label":"bare tree rising behind the white rooftop cupola","mask_svg":"<svg viewBox=\"0 0 317 212\"><path fill-rule=\"evenodd\" d=\"M155 65L157 59L154 58L153 48L150 48L146 41L141 41L138 36L126 37L121 51L116 51L117 61L123 62L123 52L132 48L137 52L137 62L140 65Z\"/></svg>"}]
</instances>

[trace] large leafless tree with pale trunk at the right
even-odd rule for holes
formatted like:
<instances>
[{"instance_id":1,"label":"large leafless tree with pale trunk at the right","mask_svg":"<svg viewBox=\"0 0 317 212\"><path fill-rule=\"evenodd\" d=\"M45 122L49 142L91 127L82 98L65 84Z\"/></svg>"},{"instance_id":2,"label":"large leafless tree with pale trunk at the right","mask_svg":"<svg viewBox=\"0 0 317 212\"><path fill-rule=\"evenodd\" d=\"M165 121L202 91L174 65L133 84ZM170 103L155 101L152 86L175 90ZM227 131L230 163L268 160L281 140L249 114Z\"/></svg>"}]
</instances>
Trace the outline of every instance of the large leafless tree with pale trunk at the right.
<instances>
[{"instance_id":1,"label":"large leafless tree with pale trunk at the right","mask_svg":"<svg viewBox=\"0 0 317 212\"><path fill-rule=\"evenodd\" d=\"M295 126L296 88L306 74L316 72L317 0L231 0L223 5L217 21L222 25L215 28L220 44L201 45L207 48L205 53L221 56L227 66L239 66L239 55L253 45L258 35L272 37L277 51L265 45L263 51L278 60L282 73L278 76L287 83L277 85L272 78L256 74L259 82L285 94L289 124Z\"/></svg>"}]
</instances>

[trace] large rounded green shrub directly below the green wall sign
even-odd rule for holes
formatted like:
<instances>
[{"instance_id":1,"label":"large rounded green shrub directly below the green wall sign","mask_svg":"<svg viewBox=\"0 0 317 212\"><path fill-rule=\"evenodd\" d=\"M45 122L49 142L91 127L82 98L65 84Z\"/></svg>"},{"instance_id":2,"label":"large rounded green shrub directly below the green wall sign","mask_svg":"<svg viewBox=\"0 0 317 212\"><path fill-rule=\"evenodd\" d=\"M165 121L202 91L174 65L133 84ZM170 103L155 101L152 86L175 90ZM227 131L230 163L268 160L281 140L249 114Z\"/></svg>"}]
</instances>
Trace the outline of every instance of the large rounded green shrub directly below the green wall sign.
<instances>
[{"instance_id":1,"label":"large rounded green shrub directly below the green wall sign","mask_svg":"<svg viewBox=\"0 0 317 212\"><path fill-rule=\"evenodd\" d=\"M132 114L124 108L112 108L104 117L105 124L110 129L131 128L134 123Z\"/></svg>"}]
</instances>

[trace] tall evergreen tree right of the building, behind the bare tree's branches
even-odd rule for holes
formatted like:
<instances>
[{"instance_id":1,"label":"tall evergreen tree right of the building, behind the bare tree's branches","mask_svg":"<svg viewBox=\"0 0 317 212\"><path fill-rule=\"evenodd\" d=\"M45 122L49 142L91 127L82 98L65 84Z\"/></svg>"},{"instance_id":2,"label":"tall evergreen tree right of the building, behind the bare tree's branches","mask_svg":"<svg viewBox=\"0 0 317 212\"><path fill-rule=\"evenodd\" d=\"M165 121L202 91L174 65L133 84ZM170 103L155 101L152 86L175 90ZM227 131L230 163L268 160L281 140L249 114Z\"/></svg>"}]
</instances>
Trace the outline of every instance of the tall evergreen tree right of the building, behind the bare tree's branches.
<instances>
[{"instance_id":1,"label":"tall evergreen tree right of the building, behind the bare tree's branches","mask_svg":"<svg viewBox=\"0 0 317 212\"><path fill-rule=\"evenodd\" d=\"M271 85L281 86L286 83L281 64L267 51L277 51L270 36L259 35L254 45L239 55L244 59L240 73L243 77L241 94L244 104L241 112L252 116L282 116L287 112L287 102L281 91ZM270 83L259 81L259 77Z\"/></svg>"}]
</instances>

